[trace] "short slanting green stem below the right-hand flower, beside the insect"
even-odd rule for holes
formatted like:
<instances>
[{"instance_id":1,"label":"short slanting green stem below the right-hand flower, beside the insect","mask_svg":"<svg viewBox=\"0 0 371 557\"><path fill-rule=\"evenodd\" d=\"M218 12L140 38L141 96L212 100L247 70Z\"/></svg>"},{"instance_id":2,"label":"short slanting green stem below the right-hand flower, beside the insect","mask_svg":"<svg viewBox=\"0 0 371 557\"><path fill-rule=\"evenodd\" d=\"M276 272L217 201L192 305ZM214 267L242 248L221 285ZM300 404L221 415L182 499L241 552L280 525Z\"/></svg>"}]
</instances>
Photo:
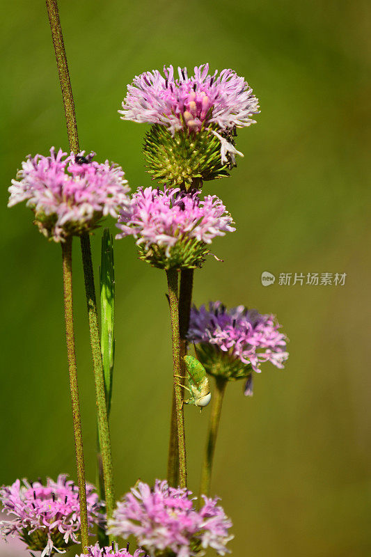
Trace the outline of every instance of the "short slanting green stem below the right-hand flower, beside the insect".
<instances>
[{"instance_id":1,"label":"short slanting green stem below the right-hand flower, beside the insect","mask_svg":"<svg viewBox=\"0 0 371 557\"><path fill-rule=\"evenodd\" d=\"M212 464L214 462L216 437L219 430L221 406L223 405L224 393L226 392L227 380L217 377L215 380L215 391L212 395L212 409L210 413L209 432L205 446L205 455L201 471L200 495L210 495L210 484L212 478Z\"/></svg>"}]
</instances>

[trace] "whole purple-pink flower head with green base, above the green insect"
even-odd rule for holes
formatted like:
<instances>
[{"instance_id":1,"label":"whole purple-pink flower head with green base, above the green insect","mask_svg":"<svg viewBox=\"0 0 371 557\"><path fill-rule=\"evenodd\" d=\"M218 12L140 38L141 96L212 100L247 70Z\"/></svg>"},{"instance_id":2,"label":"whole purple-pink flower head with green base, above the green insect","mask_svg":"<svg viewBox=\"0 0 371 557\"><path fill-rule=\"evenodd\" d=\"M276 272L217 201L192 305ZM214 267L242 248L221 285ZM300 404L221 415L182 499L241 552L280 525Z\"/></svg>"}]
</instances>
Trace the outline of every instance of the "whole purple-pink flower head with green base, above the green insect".
<instances>
[{"instance_id":1,"label":"whole purple-pink flower head with green base, above the green insect","mask_svg":"<svg viewBox=\"0 0 371 557\"><path fill-rule=\"evenodd\" d=\"M251 370L260 372L265 361L283 368L287 360L287 338L280 327L274 315L262 315L244 306L228 311L215 301L208 308L191 309L188 338L200 343L199 357L208 372L247 379L245 394L251 395Z\"/></svg>"}]
</instances>

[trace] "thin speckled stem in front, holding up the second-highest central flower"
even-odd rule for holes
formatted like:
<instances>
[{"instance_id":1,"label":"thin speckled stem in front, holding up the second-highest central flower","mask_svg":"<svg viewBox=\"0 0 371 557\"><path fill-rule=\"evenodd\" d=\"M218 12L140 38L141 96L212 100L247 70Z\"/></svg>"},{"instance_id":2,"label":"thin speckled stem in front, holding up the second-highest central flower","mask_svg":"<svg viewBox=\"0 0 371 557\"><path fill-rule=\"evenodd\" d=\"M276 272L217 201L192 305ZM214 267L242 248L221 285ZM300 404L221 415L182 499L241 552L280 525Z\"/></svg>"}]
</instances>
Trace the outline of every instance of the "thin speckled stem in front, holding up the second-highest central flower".
<instances>
[{"instance_id":1,"label":"thin speckled stem in front, holding up the second-highest central flower","mask_svg":"<svg viewBox=\"0 0 371 557\"><path fill-rule=\"evenodd\" d=\"M171 334L173 339L173 389L175 393L175 412L176 412L176 436L179 453L179 485L187 487L187 459L185 448L184 434L184 413L183 413L183 396L180 387L180 334L179 334L179 301L177 288L177 269L168 269L166 271L168 280L168 297L171 315ZM175 431L171 431L174 435ZM173 466L174 466L173 461ZM173 469L168 470L168 478L173 478ZM169 480L170 481L170 480Z\"/></svg>"}]
</instances>

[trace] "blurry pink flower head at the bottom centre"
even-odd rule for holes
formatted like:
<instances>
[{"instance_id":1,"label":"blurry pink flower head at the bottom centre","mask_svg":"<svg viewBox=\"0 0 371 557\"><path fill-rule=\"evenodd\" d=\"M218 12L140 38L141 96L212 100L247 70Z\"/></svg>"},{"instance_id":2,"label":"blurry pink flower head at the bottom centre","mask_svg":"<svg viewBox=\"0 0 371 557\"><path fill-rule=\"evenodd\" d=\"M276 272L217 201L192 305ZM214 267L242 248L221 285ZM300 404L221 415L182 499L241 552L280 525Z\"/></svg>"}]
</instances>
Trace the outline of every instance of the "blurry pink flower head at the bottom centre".
<instances>
[{"instance_id":1,"label":"blurry pink flower head at the bottom centre","mask_svg":"<svg viewBox=\"0 0 371 557\"><path fill-rule=\"evenodd\" d=\"M150 488L140 482L117 505L109 531L127 538L134 535L139 546L151 557L172 551L177 557L203 554L212 547L219 555L229 553L226 544L232 539L228 529L232 522L218 498L207 499L196 510L194 499L187 489L169 487L166 481L156 480Z\"/></svg>"}]
</instances>

